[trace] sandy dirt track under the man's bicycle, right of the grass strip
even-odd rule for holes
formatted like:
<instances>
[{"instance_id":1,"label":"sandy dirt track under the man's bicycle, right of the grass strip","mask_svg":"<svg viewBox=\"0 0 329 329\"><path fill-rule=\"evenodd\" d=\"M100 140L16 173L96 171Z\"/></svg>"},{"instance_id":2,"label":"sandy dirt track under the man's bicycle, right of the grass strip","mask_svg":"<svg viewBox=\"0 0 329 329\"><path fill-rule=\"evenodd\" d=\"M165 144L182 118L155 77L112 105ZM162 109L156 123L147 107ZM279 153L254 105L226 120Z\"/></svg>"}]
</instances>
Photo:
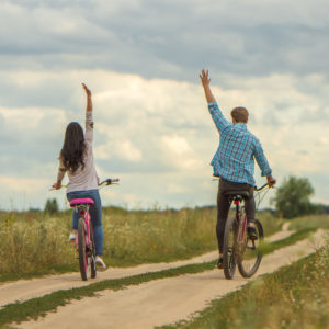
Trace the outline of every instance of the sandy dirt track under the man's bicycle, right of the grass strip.
<instances>
[{"instance_id":1,"label":"sandy dirt track under the man's bicycle, right of the grass strip","mask_svg":"<svg viewBox=\"0 0 329 329\"><path fill-rule=\"evenodd\" d=\"M320 247L321 236L319 230L313 241L303 240L264 257L257 275L273 272L315 251ZM73 302L43 319L21 324L19 328L154 328L188 318L209 300L247 282L238 274L227 281L218 270L156 280L123 291L101 292L98 298Z\"/></svg>"}]
</instances>

